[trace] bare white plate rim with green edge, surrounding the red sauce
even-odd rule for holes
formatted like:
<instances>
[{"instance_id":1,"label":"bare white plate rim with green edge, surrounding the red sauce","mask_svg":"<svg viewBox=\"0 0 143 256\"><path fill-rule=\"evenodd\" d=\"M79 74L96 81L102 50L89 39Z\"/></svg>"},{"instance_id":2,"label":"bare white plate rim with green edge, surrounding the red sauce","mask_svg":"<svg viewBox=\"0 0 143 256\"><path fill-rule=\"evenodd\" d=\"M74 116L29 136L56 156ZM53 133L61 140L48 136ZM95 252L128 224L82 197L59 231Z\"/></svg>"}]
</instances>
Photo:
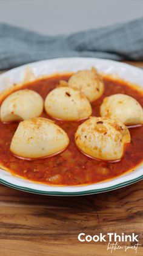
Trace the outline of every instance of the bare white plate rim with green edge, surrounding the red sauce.
<instances>
[{"instance_id":1,"label":"bare white plate rim with green edge, surrounding the red sauce","mask_svg":"<svg viewBox=\"0 0 143 256\"><path fill-rule=\"evenodd\" d=\"M22 82L25 67L12 69L0 76L0 91L5 89L5 86L12 87L13 84ZM48 76L52 73L66 73L77 71L79 69L91 68L95 66L100 72L105 74L117 75L121 79L127 80L140 85L143 88L143 71L133 66L115 62L112 60L92 59L92 58L67 58L67 59L52 59L41 62L30 63L28 66L32 69L35 77ZM58 195L58 196L74 196L84 194L101 193L104 191L115 190L117 188L130 185L138 180L143 179L143 167L135 169L135 171L115 179L95 183L87 186L48 186L36 182L24 180L12 176L10 172L0 169L0 182L18 190L23 190L31 193Z\"/></svg>"}]
</instances>

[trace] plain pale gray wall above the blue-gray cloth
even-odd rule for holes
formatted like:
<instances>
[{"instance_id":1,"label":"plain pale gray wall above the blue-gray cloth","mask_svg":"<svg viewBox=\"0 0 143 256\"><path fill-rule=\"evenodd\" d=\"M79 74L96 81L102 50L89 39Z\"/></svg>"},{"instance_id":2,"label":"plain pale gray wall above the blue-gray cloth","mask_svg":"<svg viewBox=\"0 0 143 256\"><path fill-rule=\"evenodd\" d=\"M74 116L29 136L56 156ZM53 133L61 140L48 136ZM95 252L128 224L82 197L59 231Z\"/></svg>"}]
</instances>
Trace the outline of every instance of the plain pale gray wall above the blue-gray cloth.
<instances>
[{"instance_id":1,"label":"plain pale gray wall above the blue-gray cloth","mask_svg":"<svg viewBox=\"0 0 143 256\"><path fill-rule=\"evenodd\" d=\"M0 0L0 21L45 34L67 34L140 16L143 0Z\"/></svg>"}]
</instances>

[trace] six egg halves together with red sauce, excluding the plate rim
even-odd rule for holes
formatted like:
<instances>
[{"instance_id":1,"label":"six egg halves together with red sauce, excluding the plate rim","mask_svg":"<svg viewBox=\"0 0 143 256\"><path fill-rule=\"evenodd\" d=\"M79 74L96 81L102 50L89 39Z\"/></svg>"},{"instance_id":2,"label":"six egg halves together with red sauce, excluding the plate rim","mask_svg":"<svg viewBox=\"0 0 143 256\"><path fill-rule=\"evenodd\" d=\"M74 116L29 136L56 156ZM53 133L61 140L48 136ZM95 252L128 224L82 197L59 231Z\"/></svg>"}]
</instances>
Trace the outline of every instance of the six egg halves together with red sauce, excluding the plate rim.
<instances>
[{"instance_id":1,"label":"six egg halves together with red sauce, excluding the plate rim","mask_svg":"<svg viewBox=\"0 0 143 256\"><path fill-rule=\"evenodd\" d=\"M143 92L95 68L0 95L0 166L48 185L88 185L143 161Z\"/></svg>"}]
</instances>

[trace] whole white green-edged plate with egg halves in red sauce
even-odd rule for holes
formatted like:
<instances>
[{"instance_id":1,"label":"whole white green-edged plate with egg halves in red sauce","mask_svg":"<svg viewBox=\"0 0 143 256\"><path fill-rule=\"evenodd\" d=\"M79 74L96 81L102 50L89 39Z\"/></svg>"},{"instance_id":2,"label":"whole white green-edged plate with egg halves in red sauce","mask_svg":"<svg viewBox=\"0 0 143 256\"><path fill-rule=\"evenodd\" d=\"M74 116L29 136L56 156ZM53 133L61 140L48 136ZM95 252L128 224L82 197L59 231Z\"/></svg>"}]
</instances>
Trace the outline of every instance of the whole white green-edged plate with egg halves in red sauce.
<instances>
[{"instance_id":1,"label":"whole white green-edged plate with egg halves in red sauce","mask_svg":"<svg viewBox=\"0 0 143 256\"><path fill-rule=\"evenodd\" d=\"M143 71L112 60L43 60L0 76L0 182L78 196L143 178Z\"/></svg>"}]
</instances>

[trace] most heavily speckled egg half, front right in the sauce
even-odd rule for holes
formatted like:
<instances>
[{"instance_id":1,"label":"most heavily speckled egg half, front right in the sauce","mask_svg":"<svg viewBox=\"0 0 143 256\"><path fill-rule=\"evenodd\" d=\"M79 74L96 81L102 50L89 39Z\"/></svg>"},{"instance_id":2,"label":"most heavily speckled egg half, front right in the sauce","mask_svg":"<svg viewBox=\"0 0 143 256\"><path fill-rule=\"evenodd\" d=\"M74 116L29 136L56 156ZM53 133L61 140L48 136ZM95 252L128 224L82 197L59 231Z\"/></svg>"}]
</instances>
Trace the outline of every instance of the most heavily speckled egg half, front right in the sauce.
<instances>
[{"instance_id":1,"label":"most heavily speckled egg half, front right in the sauce","mask_svg":"<svg viewBox=\"0 0 143 256\"><path fill-rule=\"evenodd\" d=\"M124 146L130 143L130 132L121 121L91 117L75 133L75 142L85 155L99 160L120 160Z\"/></svg>"}]
</instances>

